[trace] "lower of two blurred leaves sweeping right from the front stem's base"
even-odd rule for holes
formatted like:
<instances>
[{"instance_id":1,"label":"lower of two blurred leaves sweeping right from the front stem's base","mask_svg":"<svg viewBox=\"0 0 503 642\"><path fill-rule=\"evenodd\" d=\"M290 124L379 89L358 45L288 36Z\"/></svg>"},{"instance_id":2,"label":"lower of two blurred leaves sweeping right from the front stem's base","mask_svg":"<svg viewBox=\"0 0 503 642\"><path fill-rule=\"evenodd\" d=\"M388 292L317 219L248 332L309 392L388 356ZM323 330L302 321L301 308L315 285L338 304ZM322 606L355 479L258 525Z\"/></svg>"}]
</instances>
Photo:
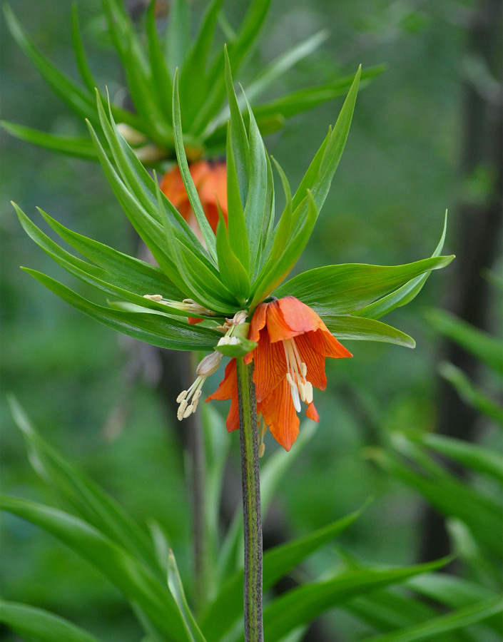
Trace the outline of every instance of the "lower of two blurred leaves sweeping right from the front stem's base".
<instances>
[{"instance_id":1,"label":"lower of two blurred leaves sweeping right from the front stem's base","mask_svg":"<svg viewBox=\"0 0 503 642\"><path fill-rule=\"evenodd\" d=\"M400 569L342 571L326 581L303 584L276 598L265 608L264 638L275 642L298 626L313 621L329 608L346 603L355 596L370 593L376 588L399 584L409 577L432 571L446 563L447 560L443 559Z\"/></svg>"}]
</instances>

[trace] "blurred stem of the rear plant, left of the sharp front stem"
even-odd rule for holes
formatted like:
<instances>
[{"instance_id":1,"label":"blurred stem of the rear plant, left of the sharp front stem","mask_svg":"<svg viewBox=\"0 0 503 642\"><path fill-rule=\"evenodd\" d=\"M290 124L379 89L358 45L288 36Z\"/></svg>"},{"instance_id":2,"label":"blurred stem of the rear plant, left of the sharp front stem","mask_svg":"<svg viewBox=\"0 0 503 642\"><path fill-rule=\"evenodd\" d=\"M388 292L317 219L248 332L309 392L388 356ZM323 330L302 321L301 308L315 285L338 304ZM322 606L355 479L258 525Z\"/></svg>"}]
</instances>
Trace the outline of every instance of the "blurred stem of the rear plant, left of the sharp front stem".
<instances>
[{"instance_id":1,"label":"blurred stem of the rear plant, left of the sharp front stem","mask_svg":"<svg viewBox=\"0 0 503 642\"><path fill-rule=\"evenodd\" d=\"M190 372L198 367L200 355L190 352ZM208 598L208 538L205 527L205 453L200 412L188 417L189 451L192 466L194 606L198 612Z\"/></svg>"}]
</instances>

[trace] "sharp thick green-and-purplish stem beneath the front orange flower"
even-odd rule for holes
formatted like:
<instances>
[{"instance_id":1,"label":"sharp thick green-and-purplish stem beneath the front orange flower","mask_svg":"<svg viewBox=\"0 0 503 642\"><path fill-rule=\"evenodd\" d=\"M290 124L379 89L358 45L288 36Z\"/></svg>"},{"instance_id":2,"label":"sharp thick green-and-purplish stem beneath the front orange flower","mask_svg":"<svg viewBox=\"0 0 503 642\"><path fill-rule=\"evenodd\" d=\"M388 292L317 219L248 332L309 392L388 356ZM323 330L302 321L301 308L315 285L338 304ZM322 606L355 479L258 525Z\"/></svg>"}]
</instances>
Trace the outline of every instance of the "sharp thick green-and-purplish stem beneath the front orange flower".
<instances>
[{"instance_id":1,"label":"sharp thick green-and-purplish stem beneath the front orange flower","mask_svg":"<svg viewBox=\"0 0 503 642\"><path fill-rule=\"evenodd\" d=\"M238 372L243 523L245 534L245 642L263 642L262 516L258 466L257 402L253 363L236 360Z\"/></svg>"}]
</instances>

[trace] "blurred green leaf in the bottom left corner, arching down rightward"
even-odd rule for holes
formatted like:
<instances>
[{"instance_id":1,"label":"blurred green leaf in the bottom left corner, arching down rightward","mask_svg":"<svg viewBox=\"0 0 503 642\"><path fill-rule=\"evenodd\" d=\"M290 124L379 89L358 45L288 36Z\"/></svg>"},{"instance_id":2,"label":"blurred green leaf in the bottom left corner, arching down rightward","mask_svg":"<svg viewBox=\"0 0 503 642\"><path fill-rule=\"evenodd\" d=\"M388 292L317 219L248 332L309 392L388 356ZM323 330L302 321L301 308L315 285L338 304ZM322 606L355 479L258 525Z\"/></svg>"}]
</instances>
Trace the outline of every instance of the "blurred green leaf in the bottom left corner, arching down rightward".
<instances>
[{"instance_id":1,"label":"blurred green leaf in the bottom left corner, arching down rightward","mask_svg":"<svg viewBox=\"0 0 503 642\"><path fill-rule=\"evenodd\" d=\"M0 599L0 623L33 642L98 642L98 638L63 618L19 602Z\"/></svg>"}]
</instances>

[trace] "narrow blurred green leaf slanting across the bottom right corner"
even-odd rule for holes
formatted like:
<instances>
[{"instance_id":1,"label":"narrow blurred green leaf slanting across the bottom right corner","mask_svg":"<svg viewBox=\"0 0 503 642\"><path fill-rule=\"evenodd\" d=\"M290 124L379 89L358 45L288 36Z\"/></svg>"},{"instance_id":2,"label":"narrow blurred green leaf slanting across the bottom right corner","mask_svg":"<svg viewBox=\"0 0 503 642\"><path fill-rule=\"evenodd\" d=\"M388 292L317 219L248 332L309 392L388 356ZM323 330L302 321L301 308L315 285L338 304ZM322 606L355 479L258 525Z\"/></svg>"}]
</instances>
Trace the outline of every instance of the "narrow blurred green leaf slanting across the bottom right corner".
<instances>
[{"instance_id":1,"label":"narrow blurred green leaf slanting across the bottom right corner","mask_svg":"<svg viewBox=\"0 0 503 642\"><path fill-rule=\"evenodd\" d=\"M422 640L444 640L445 633L459 631L467 626L482 622L485 619L502 613L503 598L500 596L489 598L469 606L459 608L457 611L432 618L416 626L406 628L405 631L394 631L382 636L366 638L367 642L419 642ZM440 638L442 636L442 638Z\"/></svg>"}]
</instances>

